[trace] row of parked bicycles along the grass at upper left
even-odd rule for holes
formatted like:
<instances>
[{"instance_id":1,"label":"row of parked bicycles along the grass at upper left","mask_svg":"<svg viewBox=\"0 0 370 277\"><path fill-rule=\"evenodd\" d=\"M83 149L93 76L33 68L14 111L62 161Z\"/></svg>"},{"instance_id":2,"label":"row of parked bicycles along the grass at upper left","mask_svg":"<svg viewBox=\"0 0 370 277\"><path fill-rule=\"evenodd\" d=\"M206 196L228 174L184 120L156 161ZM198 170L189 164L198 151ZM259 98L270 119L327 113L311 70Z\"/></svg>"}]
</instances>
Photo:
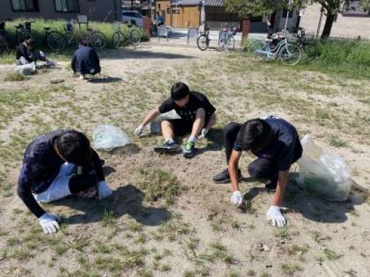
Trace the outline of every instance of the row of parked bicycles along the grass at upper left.
<instances>
[{"instance_id":1,"label":"row of parked bicycles along the grass at upper left","mask_svg":"<svg viewBox=\"0 0 370 277\"><path fill-rule=\"evenodd\" d=\"M64 49L77 49L79 41L83 41L94 49L103 49L106 47L107 38L99 30L86 27L86 33L82 34L79 31L75 31L75 28L71 23L64 25L64 32L57 31L51 27L43 27L44 33L42 36L32 29L32 23L34 21L26 21L25 23L19 23L14 25L15 40L16 44L25 42L28 39L32 39L38 44L45 45L51 50L62 51ZM112 47L119 48L121 44L130 44L136 47L140 43L140 32L138 29L129 29L129 31L123 32L121 29L121 23L114 25L114 33L112 35ZM0 55L3 53L9 53L12 49L11 45L14 42L11 41L10 35L5 31L5 22L0 22Z\"/></svg>"}]
</instances>

